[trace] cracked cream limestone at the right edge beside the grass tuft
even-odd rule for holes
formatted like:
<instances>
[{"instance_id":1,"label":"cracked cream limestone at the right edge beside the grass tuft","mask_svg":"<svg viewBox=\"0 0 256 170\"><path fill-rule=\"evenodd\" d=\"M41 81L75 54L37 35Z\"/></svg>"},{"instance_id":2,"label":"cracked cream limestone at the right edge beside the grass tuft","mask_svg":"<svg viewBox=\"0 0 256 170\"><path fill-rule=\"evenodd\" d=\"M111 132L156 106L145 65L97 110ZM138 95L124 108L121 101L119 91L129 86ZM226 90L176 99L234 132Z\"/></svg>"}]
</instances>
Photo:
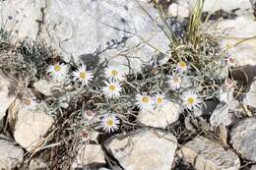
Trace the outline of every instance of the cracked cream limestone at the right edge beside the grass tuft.
<instances>
[{"instance_id":1,"label":"cracked cream limestone at the right edge beside the grass tuft","mask_svg":"<svg viewBox=\"0 0 256 170\"><path fill-rule=\"evenodd\" d=\"M224 48L233 46L243 38L249 38L256 34L256 21L253 21L250 16L239 16L235 20L221 21L218 27L226 34L223 39ZM255 38L228 49L228 53L236 60L238 66L256 65Z\"/></svg>"}]
</instances>

